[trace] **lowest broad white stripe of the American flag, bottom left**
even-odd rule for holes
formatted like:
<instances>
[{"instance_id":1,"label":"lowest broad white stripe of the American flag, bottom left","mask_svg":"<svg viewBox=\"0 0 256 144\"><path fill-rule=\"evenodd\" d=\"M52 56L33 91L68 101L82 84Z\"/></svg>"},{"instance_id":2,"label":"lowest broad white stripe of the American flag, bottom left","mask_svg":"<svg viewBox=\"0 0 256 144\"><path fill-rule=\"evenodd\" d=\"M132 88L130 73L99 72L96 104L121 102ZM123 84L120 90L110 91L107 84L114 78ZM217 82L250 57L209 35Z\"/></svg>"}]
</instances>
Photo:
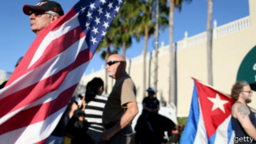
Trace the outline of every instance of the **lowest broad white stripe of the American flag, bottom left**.
<instances>
[{"instance_id":1,"label":"lowest broad white stripe of the American flag, bottom left","mask_svg":"<svg viewBox=\"0 0 256 144\"><path fill-rule=\"evenodd\" d=\"M66 107L46 120L0 135L0 144L32 144L47 138L58 124Z\"/></svg>"}]
</instances>

